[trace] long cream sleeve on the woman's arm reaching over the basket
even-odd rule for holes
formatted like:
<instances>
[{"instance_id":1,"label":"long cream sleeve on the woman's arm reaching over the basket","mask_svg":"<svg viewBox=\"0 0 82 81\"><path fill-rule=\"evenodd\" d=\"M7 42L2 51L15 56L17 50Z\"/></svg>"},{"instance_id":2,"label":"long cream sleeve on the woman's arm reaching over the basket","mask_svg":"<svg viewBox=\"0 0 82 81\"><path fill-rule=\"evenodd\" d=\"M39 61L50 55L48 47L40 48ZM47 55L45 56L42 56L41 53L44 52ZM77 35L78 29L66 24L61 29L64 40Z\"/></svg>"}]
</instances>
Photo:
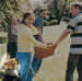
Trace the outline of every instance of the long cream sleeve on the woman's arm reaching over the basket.
<instances>
[{"instance_id":1,"label":"long cream sleeve on the woman's arm reaching over the basket","mask_svg":"<svg viewBox=\"0 0 82 81\"><path fill-rule=\"evenodd\" d=\"M27 40L30 40L31 43L33 43L34 46L47 48L47 45L46 44L43 44L43 43L40 43L40 42L38 42L38 40L36 40L34 38L34 36L32 35L32 32L28 28L26 28L25 32L26 32L26 35L24 35L24 38L26 38Z\"/></svg>"}]
</instances>

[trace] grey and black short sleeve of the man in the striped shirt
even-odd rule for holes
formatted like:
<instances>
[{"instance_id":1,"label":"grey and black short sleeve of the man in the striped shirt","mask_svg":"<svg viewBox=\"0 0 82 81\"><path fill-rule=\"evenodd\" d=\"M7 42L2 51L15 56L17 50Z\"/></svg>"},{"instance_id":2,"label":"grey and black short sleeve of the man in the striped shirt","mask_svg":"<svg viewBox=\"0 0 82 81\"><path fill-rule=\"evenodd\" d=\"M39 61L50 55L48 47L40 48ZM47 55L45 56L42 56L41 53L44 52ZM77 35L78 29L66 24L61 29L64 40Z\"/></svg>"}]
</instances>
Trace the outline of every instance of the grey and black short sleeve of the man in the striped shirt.
<instances>
[{"instance_id":1,"label":"grey and black short sleeve of the man in the striped shirt","mask_svg":"<svg viewBox=\"0 0 82 81\"><path fill-rule=\"evenodd\" d=\"M77 19L72 19L72 20L70 20L70 22L69 22L69 25L67 26L67 31L68 32L74 32L75 31L75 26L77 26Z\"/></svg>"}]
</instances>

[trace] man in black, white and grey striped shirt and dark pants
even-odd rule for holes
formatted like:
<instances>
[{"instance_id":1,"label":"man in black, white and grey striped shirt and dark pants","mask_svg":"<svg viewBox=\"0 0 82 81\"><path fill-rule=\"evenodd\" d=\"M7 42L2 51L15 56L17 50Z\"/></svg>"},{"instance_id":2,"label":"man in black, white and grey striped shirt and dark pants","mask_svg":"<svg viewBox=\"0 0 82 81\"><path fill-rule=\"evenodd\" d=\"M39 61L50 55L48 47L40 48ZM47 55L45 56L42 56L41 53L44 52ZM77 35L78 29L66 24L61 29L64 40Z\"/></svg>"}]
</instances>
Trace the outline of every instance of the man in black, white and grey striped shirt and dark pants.
<instances>
[{"instance_id":1,"label":"man in black, white and grey striped shirt and dark pants","mask_svg":"<svg viewBox=\"0 0 82 81\"><path fill-rule=\"evenodd\" d=\"M82 81L82 2L73 2L70 5L72 19L67 30L57 39L55 48L69 35L71 37L70 55L67 62L66 81L73 81L73 72L77 68L79 80Z\"/></svg>"}]
</instances>

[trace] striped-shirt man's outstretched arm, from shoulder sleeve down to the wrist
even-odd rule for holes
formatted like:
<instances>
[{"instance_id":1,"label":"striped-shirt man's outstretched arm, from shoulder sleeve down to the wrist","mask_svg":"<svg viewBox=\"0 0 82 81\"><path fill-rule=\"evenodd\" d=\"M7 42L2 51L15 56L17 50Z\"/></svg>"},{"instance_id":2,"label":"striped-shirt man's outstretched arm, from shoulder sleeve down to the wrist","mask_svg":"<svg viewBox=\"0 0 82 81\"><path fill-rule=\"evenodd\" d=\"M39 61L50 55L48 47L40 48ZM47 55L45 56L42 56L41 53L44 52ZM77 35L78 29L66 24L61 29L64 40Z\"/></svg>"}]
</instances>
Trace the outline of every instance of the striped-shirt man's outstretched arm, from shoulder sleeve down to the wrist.
<instances>
[{"instance_id":1,"label":"striped-shirt man's outstretched arm, from shoulder sleeve down to the wrist","mask_svg":"<svg viewBox=\"0 0 82 81\"><path fill-rule=\"evenodd\" d=\"M75 26L78 23L78 18L71 19L67 30L62 33L62 35L58 38L58 40L56 42L56 44L54 44L54 48L56 48L58 46L59 43L61 43L70 33L75 31Z\"/></svg>"}]
</instances>

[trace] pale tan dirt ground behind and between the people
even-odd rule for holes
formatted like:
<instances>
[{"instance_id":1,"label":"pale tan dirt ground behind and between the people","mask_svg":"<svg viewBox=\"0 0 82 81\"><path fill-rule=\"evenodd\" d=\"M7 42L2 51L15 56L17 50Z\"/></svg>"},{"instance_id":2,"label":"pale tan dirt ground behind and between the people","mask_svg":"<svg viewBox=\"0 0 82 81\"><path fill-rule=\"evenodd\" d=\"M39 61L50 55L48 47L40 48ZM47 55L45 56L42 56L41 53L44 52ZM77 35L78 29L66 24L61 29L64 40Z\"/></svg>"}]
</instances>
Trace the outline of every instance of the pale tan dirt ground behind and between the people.
<instances>
[{"instance_id":1,"label":"pale tan dirt ground behind and between the people","mask_svg":"<svg viewBox=\"0 0 82 81\"><path fill-rule=\"evenodd\" d=\"M45 43L55 43L67 24L63 22L60 25L45 26L44 40ZM5 45L0 45L0 57L5 53ZM67 60L70 50L70 37L68 36L55 50L55 55L44 59L40 70L34 78L34 81L65 81ZM74 79L77 78L74 73Z\"/></svg>"}]
</instances>

